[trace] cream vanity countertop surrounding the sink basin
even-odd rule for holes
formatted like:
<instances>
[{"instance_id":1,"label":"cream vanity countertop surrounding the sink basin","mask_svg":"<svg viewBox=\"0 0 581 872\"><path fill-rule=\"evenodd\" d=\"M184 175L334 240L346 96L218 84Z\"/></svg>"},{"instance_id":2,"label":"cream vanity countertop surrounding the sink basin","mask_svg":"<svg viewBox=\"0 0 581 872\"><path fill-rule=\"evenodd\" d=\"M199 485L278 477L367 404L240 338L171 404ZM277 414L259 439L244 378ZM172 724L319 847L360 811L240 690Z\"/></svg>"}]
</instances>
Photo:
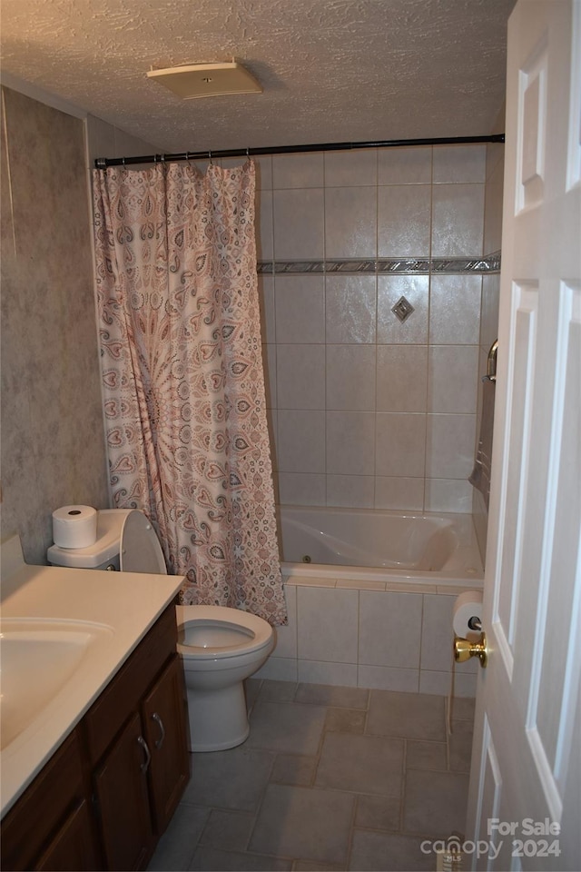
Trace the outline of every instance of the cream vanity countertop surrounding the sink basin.
<instances>
[{"instance_id":1,"label":"cream vanity countertop surrounding the sink basin","mask_svg":"<svg viewBox=\"0 0 581 872\"><path fill-rule=\"evenodd\" d=\"M39 716L0 752L0 814L13 806L91 707L182 582L180 576L11 562L3 578L3 620L89 621L105 629Z\"/></svg>"}]
</instances>

